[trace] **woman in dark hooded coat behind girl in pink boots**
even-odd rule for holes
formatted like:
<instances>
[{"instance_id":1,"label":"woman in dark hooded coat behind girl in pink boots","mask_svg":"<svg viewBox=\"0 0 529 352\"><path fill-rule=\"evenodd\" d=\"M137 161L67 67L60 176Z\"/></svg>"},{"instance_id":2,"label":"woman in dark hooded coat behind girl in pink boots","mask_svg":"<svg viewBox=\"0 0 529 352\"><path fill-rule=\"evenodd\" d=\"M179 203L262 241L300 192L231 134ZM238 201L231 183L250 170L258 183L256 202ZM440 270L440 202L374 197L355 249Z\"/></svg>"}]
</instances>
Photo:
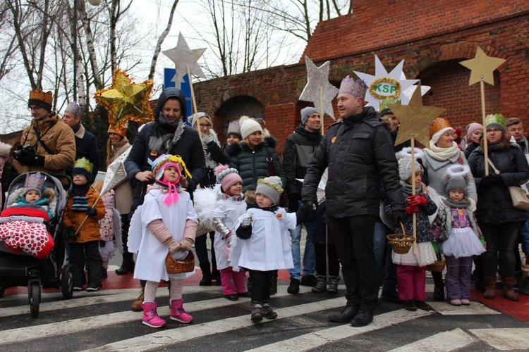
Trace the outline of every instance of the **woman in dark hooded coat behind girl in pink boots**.
<instances>
[{"instance_id":1,"label":"woman in dark hooded coat behind girl in pink boots","mask_svg":"<svg viewBox=\"0 0 529 352\"><path fill-rule=\"evenodd\" d=\"M125 170L134 186L132 215L143 203L147 185L154 183L152 162L162 154L181 156L191 177L182 175L180 184L193 197L193 191L206 176L206 161L197 131L186 125L186 96L180 89L167 88L160 94L154 122L144 125L135 137L125 161ZM143 289L132 309L142 310Z\"/></svg>"}]
</instances>

